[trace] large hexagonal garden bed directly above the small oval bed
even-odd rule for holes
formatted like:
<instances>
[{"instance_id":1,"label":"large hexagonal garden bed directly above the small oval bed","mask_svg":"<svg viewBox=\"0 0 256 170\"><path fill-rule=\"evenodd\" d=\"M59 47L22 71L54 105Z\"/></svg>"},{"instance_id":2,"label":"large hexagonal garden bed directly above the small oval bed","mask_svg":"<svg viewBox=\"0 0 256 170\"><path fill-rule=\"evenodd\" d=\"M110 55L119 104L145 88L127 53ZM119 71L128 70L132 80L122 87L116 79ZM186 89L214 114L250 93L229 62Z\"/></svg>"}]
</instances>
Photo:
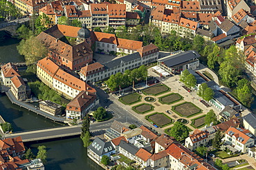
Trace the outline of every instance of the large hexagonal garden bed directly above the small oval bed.
<instances>
[{"instance_id":1,"label":"large hexagonal garden bed directly above the small oval bed","mask_svg":"<svg viewBox=\"0 0 256 170\"><path fill-rule=\"evenodd\" d=\"M175 105L172 107L172 111L174 111L176 114L179 114L179 116L183 116L185 118L190 118L202 112L199 107L190 102Z\"/></svg>"}]
</instances>

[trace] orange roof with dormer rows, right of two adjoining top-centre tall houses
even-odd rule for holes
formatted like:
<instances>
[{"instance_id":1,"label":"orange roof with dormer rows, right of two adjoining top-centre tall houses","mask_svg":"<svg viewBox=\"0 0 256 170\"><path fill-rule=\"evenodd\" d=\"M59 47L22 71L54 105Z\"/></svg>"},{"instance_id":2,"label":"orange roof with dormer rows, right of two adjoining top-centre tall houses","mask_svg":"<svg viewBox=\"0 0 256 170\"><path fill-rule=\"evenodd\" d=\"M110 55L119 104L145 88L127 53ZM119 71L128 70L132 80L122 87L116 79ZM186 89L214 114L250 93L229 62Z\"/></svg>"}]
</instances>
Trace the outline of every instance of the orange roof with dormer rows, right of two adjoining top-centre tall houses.
<instances>
[{"instance_id":1,"label":"orange roof with dormer rows, right of two adjoining top-centre tall houses","mask_svg":"<svg viewBox=\"0 0 256 170\"><path fill-rule=\"evenodd\" d=\"M107 11L109 13L109 18L126 18L125 4L108 4Z\"/></svg>"}]
</instances>

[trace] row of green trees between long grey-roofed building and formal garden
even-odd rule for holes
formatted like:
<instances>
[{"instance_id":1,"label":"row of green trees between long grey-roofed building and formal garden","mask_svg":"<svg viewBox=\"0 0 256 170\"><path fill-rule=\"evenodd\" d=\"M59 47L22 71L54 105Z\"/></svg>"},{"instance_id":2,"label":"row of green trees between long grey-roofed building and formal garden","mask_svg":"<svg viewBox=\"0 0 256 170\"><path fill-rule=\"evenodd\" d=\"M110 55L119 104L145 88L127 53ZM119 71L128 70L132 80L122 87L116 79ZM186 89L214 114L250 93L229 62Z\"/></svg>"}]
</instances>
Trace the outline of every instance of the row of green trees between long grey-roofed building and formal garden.
<instances>
[{"instance_id":1,"label":"row of green trees between long grey-roofed building and formal garden","mask_svg":"<svg viewBox=\"0 0 256 170\"><path fill-rule=\"evenodd\" d=\"M112 74L110 78L106 81L107 86L112 90L117 90L119 87L129 87L133 83L138 81L145 81L147 78L147 67L141 65L134 70L125 70L125 73L118 72L117 74Z\"/></svg>"}]
</instances>

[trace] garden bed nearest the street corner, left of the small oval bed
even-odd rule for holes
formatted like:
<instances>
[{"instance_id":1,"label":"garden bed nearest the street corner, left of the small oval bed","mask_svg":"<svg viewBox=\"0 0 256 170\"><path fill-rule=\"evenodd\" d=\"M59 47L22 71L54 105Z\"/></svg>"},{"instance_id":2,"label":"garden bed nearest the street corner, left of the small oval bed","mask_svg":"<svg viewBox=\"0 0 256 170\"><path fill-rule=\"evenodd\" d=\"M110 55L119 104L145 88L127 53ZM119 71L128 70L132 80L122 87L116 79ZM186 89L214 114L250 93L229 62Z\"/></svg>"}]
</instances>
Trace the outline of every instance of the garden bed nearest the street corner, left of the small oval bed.
<instances>
[{"instance_id":1,"label":"garden bed nearest the street corner, left of the small oval bed","mask_svg":"<svg viewBox=\"0 0 256 170\"><path fill-rule=\"evenodd\" d=\"M158 112L145 116L145 119L149 120L149 122L156 124L158 127L166 127L167 125L172 124L172 118Z\"/></svg>"}]
</instances>

